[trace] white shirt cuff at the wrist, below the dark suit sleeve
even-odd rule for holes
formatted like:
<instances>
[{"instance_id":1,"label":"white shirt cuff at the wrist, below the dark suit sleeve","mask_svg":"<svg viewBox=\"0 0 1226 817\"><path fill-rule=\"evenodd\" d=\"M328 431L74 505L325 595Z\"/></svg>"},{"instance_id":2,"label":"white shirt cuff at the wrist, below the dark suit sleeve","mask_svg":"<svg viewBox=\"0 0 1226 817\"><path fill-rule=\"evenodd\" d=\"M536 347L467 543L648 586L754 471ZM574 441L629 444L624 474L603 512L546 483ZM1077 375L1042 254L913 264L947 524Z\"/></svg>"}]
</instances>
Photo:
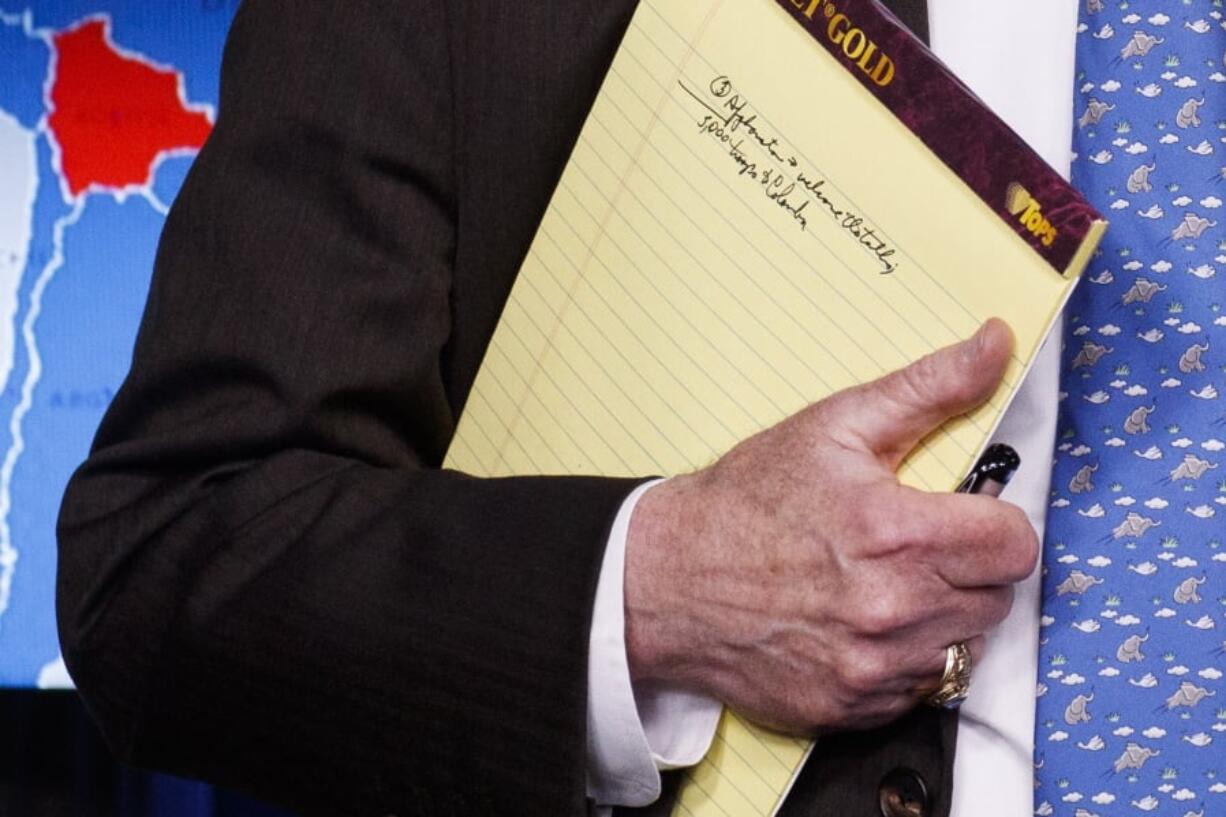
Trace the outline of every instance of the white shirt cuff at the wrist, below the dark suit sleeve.
<instances>
[{"instance_id":1,"label":"white shirt cuff at the wrist, below the dark suit sleeve","mask_svg":"<svg viewBox=\"0 0 1226 817\"><path fill-rule=\"evenodd\" d=\"M630 683L625 543L635 505L658 482L639 486L622 503L596 586L587 660L587 796L602 806L655 802L660 770L701 761L723 710L718 700L704 694Z\"/></svg>"}]
</instances>

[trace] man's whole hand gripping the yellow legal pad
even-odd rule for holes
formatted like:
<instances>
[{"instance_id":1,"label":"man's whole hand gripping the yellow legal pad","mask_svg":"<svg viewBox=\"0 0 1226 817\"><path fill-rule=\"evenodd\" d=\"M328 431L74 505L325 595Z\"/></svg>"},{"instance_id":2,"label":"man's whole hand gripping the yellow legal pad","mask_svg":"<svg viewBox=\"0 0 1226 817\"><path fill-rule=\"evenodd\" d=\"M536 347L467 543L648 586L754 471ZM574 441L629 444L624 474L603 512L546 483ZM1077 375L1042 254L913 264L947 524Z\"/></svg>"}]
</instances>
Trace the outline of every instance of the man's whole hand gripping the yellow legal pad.
<instances>
[{"instance_id":1,"label":"man's whole hand gripping the yellow legal pad","mask_svg":"<svg viewBox=\"0 0 1226 817\"><path fill-rule=\"evenodd\" d=\"M1011 342L989 321L649 491L626 546L635 680L813 732L893 720L937 686L949 644L978 655L1035 568L1035 532L1011 504L894 471L996 390Z\"/></svg>"}]
</instances>

